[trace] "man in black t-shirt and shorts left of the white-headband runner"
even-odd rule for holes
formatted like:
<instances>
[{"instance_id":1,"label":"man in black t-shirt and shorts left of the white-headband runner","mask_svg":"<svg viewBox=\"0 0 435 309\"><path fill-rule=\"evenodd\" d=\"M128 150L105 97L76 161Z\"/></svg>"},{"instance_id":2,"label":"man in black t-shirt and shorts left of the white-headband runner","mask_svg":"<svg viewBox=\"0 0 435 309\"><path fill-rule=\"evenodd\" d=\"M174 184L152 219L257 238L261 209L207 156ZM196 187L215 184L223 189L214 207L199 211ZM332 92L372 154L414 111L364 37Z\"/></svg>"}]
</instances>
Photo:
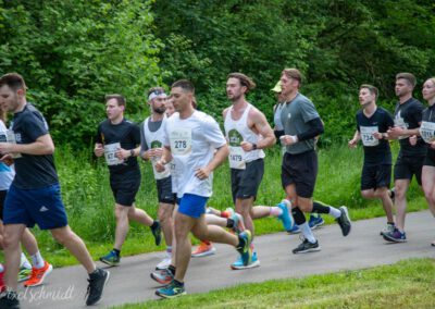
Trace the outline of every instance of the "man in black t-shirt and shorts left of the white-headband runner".
<instances>
[{"instance_id":1,"label":"man in black t-shirt and shorts left of the white-headband runner","mask_svg":"<svg viewBox=\"0 0 435 309\"><path fill-rule=\"evenodd\" d=\"M115 244L100 261L117 265L121 248L128 233L129 221L150 226L156 245L160 245L161 231L158 221L152 220L142 209L135 207L136 194L140 186L140 170L136 157L140 150L139 127L124 119L125 99L121 95L105 97L108 119L98 126L94 152L104 154L110 172L110 187L115 198Z\"/></svg>"}]
</instances>

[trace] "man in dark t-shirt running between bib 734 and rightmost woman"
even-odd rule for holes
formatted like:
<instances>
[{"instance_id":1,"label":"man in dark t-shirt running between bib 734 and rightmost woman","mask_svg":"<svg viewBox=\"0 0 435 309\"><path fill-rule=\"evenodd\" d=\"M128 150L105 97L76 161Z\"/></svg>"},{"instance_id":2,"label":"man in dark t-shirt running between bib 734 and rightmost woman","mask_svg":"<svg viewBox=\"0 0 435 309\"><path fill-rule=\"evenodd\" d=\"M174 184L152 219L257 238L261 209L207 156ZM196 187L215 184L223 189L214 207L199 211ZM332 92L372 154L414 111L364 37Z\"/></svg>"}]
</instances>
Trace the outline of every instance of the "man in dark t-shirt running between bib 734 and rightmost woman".
<instances>
[{"instance_id":1,"label":"man in dark t-shirt running between bib 734 and rightmost woman","mask_svg":"<svg viewBox=\"0 0 435 309\"><path fill-rule=\"evenodd\" d=\"M421 186L421 174L426 148L424 141L419 138L417 145L411 145L409 137L418 134L422 121L423 104L412 98L415 87L415 76L411 73L399 73L396 76L396 96L399 102L395 111L395 126L388 131L388 137L398 138L400 151L395 164L395 188L396 188L396 228L384 233L388 242L405 243L405 217L407 210L407 191L415 175Z\"/></svg>"}]
</instances>

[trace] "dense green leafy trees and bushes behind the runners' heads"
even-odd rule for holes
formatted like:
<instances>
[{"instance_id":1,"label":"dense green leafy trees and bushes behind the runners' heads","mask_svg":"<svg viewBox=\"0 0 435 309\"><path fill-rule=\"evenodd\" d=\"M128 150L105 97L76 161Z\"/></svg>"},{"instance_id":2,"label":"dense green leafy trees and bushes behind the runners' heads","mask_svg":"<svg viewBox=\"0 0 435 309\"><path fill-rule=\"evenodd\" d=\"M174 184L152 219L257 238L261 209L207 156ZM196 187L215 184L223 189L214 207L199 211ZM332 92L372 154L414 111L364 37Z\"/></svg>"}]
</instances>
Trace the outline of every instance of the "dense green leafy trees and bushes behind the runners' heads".
<instances>
[{"instance_id":1,"label":"dense green leafy trees and bushes behind the runners' heads","mask_svg":"<svg viewBox=\"0 0 435 309\"><path fill-rule=\"evenodd\" d=\"M395 74L412 72L420 96L435 75L434 16L432 0L0 0L0 73L23 74L55 141L84 148L105 94L125 95L140 121L146 89L189 78L199 108L221 120L226 75L239 71L272 120L270 89L298 67L331 145L355 128L360 84L393 110Z\"/></svg>"}]
</instances>

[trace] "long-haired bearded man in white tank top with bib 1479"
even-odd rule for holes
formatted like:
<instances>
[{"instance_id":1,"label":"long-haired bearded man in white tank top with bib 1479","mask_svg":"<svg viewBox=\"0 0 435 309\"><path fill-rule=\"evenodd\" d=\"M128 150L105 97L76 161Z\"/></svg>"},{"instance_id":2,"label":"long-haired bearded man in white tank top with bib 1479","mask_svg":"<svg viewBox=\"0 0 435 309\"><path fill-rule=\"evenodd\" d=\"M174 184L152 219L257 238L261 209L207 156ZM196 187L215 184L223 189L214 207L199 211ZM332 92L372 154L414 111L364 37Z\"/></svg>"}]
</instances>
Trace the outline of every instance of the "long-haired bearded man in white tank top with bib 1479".
<instances>
[{"instance_id":1,"label":"long-haired bearded man in white tank top with bib 1479","mask_svg":"<svg viewBox=\"0 0 435 309\"><path fill-rule=\"evenodd\" d=\"M229 146L229 168L233 201L236 212L244 218L245 227L254 235L251 218L253 201L264 174L264 151L275 145L275 136L264 114L250 104L245 96L256 84L241 73L231 73L226 82L226 95L232 106L223 111L225 137ZM285 203L277 207L279 214L288 209ZM266 213L269 215L269 212ZM232 264L233 269L258 267L257 252L252 261L244 264L240 259Z\"/></svg>"}]
</instances>

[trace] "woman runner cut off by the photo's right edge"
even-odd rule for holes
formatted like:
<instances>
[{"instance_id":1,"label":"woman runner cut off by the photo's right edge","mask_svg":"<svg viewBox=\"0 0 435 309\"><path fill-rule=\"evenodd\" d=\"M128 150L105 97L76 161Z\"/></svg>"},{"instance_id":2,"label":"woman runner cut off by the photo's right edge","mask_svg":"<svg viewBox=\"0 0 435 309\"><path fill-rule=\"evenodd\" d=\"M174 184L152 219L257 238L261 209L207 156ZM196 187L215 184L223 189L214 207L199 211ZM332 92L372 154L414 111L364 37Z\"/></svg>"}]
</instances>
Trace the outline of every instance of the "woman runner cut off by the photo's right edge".
<instances>
[{"instance_id":1,"label":"woman runner cut off by the photo's right edge","mask_svg":"<svg viewBox=\"0 0 435 309\"><path fill-rule=\"evenodd\" d=\"M422 183L428 209L435 217L435 77L423 84L423 99L427 108L423 111L419 135L427 145L427 153L423 162ZM417 144L417 136L411 140ZM435 247L435 242L431 243Z\"/></svg>"}]
</instances>

